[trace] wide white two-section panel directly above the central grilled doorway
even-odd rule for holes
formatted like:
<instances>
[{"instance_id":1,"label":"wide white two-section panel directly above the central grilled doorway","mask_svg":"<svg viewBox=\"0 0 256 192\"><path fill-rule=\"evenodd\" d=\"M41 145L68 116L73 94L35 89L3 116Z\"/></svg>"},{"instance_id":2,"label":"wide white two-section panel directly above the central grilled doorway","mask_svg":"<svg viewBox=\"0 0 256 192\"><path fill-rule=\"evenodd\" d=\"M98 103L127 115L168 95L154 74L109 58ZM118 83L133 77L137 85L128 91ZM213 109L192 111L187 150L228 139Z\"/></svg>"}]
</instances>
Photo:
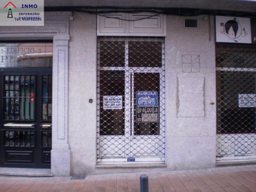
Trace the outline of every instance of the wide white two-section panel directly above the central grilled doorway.
<instances>
[{"instance_id":1,"label":"wide white two-section panel directly above the central grilled doorway","mask_svg":"<svg viewBox=\"0 0 256 192\"><path fill-rule=\"evenodd\" d=\"M97 16L97 35L166 36L166 16L163 14L154 15L154 13L142 12L136 14L109 13L103 14L103 16Z\"/></svg>"}]
</instances>

